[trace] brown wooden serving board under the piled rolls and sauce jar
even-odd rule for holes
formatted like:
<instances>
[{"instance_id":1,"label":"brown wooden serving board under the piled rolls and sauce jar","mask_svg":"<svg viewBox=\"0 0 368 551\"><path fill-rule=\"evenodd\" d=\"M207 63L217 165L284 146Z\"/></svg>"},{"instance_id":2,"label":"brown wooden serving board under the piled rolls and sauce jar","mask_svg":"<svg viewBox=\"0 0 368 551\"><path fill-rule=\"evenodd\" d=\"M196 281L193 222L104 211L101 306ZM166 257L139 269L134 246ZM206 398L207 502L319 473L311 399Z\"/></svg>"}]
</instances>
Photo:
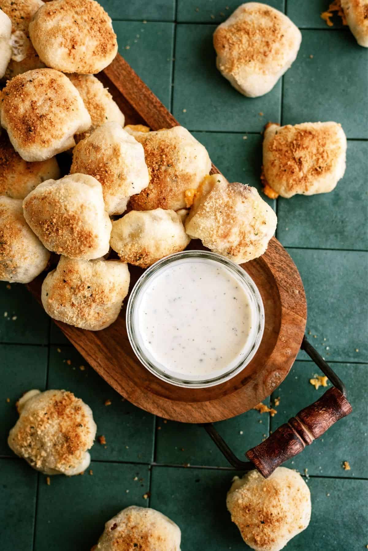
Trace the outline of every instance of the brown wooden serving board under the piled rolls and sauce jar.
<instances>
[{"instance_id":1,"label":"brown wooden serving board under the piled rolls and sauce jar","mask_svg":"<svg viewBox=\"0 0 368 551\"><path fill-rule=\"evenodd\" d=\"M126 124L144 124L153 130L178 122L142 82L129 64L117 56L98 75L126 116ZM212 164L211 174L220 172ZM191 241L189 249L203 248ZM237 376L210 388L180 388L161 381L137 360L127 337L126 302L113 325L103 331L78 329L55 321L88 363L121 396L166 419L209 423L246 412L285 379L305 331L307 306L303 284L294 262L274 237L265 254L242 264L257 285L265 310L265 328L253 360ZM131 284L142 273L130 266ZM29 284L40 300L45 274Z\"/></svg>"}]
</instances>

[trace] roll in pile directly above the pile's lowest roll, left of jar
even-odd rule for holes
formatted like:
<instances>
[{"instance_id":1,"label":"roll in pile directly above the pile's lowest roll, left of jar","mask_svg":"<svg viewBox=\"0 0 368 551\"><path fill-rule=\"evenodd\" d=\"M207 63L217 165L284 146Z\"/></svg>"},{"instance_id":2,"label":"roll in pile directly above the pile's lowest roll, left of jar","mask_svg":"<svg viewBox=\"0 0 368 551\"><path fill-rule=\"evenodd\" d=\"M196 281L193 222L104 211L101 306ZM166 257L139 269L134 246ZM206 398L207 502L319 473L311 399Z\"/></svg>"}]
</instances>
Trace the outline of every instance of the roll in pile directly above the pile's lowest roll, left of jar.
<instances>
[{"instance_id":1,"label":"roll in pile directly above the pile's lowest roll, left of jar","mask_svg":"<svg viewBox=\"0 0 368 551\"><path fill-rule=\"evenodd\" d=\"M40 183L23 201L26 222L46 249L70 258L99 258L109 251L111 222L102 187L72 174Z\"/></svg>"}]
</instances>

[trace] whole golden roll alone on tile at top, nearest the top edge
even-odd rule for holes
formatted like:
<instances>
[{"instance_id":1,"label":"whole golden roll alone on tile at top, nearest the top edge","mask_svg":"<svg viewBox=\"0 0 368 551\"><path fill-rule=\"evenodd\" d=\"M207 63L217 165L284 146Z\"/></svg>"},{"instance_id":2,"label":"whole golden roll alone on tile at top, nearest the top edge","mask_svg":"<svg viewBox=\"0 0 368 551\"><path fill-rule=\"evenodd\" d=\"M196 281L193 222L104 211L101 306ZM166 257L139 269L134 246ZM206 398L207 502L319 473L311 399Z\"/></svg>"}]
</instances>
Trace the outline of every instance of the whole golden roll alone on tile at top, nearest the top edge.
<instances>
[{"instance_id":1,"label":"whole golden roll alone on tile at top, nearest the top edge","mask_svg":"<svg viewBox=\"0 0 368 551\"><path fill-rule=\"evenodd\" d=\"M257 98L289 69L301 40L300 30L279 10L247 2L215 30L217 68L241 94Z\"/></svg>"}]
</instances>

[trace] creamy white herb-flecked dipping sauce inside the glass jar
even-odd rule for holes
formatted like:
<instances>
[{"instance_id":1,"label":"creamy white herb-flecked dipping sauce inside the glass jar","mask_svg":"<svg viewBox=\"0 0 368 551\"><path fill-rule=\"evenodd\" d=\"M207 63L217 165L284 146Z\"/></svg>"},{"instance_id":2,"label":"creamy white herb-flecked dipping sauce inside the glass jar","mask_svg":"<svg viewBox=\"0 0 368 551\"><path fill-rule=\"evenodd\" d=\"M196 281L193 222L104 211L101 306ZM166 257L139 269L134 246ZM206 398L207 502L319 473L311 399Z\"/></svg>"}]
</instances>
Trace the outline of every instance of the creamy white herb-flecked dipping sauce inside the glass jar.
<instances>
[{"instance_id":1,"label":"creamy white herb-flecked dipping sauce inside the glass jar","mask_svg":"<svg viewBox=\"0 0 368 551\"><path fill-rule=\"evenodd\" d=\"M147 280L137 309L141 344L155 364L208 379L249 352L255 314L248 290L226 266L188 258Z\"/></svg>"}]
</instances>

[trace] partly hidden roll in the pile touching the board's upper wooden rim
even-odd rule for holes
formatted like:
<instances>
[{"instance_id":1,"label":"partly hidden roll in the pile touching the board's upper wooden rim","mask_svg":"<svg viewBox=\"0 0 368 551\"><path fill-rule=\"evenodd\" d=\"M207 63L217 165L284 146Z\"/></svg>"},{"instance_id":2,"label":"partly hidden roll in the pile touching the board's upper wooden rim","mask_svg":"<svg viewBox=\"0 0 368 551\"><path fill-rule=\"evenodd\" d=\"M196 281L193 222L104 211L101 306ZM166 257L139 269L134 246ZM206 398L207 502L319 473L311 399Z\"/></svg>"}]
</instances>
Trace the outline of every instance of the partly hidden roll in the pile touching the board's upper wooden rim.
<instances>
[{"instance_id":1,"label":"partly hidden roll in the pile touching the board's upper wooden rim","mask_svg":"<svg viewBox=\"0 0 368 551\"><path fill-rule=\"evenodd\" d=\"M68 74L67 77L77 88L84 106L89 112L92 124L87 132L82 132L74 136L78 143L81 139L86 138L98 126L105 122L117 122L120 126L124 126L124 115L120 111L118 105L113 100L113 96L98 78L93 74Z\"/></svg>"}]
</instances>

